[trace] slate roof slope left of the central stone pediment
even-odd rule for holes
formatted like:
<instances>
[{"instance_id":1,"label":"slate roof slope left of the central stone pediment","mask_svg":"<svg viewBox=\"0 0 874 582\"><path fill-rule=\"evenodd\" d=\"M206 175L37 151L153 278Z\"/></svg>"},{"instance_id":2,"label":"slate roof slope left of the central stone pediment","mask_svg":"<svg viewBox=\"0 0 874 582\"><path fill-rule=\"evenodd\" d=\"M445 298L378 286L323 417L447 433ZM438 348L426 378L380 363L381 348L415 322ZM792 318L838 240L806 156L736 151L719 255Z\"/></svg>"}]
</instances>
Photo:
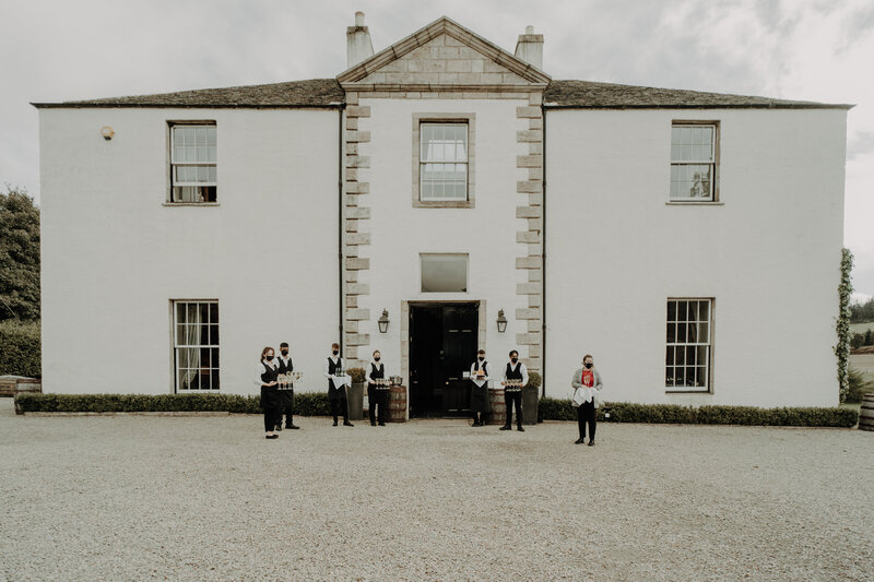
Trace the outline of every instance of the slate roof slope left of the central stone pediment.
<instances>
[{"instance_id":1,"label":"slate roof slope left of the central stone pediment","mask_svg":"<svg viewBox=\"0 0 874 582\"><path fill-rule=\"evenodd\" d=\"M111 97L63 103L34 103L42 107L208 107L265 108L330 107L343 103L345 94L335 79L310 79L224 88L200 88L156 95Z\"/></svg>"}]
</instances>

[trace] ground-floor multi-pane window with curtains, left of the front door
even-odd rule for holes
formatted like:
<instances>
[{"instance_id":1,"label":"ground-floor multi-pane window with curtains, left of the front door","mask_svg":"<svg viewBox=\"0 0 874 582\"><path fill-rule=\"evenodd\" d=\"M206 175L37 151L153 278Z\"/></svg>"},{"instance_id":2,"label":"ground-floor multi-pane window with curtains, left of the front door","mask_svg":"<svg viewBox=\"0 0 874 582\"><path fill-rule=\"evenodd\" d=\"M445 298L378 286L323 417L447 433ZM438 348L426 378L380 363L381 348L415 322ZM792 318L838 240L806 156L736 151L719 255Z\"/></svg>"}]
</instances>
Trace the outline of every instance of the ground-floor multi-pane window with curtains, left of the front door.
<instances>
[{"instance_id":1,"label":"ground-floor multi-pane window with curtains, left of the front door","mask_svg":"<svg viewBox=\"0 0 874 582\"><path fill-rule=\"evenodd\" d=\"M218 390L218 301L173 301L176 392Z\"/></svg>"}]
</instances>

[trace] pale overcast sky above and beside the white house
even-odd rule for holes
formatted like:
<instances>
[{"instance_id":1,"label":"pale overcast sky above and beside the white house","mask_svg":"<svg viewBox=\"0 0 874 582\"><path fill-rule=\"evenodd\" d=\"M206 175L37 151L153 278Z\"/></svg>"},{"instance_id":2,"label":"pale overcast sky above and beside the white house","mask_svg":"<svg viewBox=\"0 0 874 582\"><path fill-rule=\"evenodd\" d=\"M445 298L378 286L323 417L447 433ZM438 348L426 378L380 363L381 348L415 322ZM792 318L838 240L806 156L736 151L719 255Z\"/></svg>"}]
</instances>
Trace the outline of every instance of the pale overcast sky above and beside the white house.
<instances>
[{"instance_id":1,"label":"pale overcast sky above and beside the white house","mask_svg":"<svg viewBox=\"0 0 874 582\"><path fill-rule=\"evenodd\" d=\"M356 10L377 51L447 15L512 52L531 24L555 79L855 104L845 242L874 295L872 0L0 0L0 183L39 199L29 102L335 76Z\"/></svg>"}]
</instances>

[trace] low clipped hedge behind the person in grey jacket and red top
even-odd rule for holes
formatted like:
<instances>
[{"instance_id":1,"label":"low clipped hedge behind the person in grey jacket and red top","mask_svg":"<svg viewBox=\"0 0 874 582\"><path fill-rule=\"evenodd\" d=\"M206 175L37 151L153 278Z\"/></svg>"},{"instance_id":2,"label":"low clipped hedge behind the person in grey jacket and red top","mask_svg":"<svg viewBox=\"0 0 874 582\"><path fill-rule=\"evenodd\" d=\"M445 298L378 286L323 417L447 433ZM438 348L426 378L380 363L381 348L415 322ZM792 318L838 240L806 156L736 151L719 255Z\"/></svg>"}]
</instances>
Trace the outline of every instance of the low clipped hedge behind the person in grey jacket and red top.
<instances>
[{"instance_id":1,"label":"low clipped hedge behind the person in grey jacket and red top","mask_svg":"<svg viewBox=\"0 0 874 582\"><path fill-rule=\"evenodd\" d=\"M598 419L611 413L614 423L652 423L678 425L817 426L854 427L859 413L851 408L757 408L755 406L681 406L678 404L605 403ZM576 420L570 400L543 397L538 420Z\"/></svg>"}]
</instances>

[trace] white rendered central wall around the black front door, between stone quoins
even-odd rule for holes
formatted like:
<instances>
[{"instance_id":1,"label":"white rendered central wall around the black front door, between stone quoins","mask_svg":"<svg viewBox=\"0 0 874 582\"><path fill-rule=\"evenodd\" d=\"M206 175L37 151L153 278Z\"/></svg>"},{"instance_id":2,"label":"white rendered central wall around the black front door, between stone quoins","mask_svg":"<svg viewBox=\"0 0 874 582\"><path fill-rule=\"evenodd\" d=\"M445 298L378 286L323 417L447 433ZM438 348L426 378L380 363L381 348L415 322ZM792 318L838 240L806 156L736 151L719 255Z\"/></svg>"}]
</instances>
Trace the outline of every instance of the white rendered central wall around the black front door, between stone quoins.
<instances>
[{"instance_id":1,"label":"white rendered central wall around the black front door, between stone quoins","mask_svg":"<svg viewBox=\"0 0 874 582\"><path fill-rule=\"evenodd\" d=\"M527 273L516 269L516 258L528 253L527 245L516 242L517 230L527 229L516 207L528 203L528 194L516 193L517 180L528 176L516 167L516 132L528 129L527 120L517 120L516 108L528 100L363 98L359 105L370 107L370 117L358 120L358 130L370 131L370 142L359 145L370 156L370 168L359 169L358 180L370 183L361 204L371 209L370 219L359 221L359 229L371 233L371 244L358 247L361 257L370 259L370 269L359 273L370 294L358 297L359 307L370 309L370 321L358 330L370 334L370 345L359 349L359 357L380 349L386 372L401 372L401 342L408 340L401 333L402 301L483 301L486 332L484 337L480 333L480 345L493 366L507 361L509 351L518 347L516 334L527 332L527 322L515 313L528 307L528 297L516 294L516 284L528 282ZM475 207L413 207L413 116L471 112ZM423 294L420 253L468 253L468 293ZM386 334L377 328L383 308L391 320ZM499 309L509 320L505 333L495 323Z\"/></svg>"}]
</instances>

